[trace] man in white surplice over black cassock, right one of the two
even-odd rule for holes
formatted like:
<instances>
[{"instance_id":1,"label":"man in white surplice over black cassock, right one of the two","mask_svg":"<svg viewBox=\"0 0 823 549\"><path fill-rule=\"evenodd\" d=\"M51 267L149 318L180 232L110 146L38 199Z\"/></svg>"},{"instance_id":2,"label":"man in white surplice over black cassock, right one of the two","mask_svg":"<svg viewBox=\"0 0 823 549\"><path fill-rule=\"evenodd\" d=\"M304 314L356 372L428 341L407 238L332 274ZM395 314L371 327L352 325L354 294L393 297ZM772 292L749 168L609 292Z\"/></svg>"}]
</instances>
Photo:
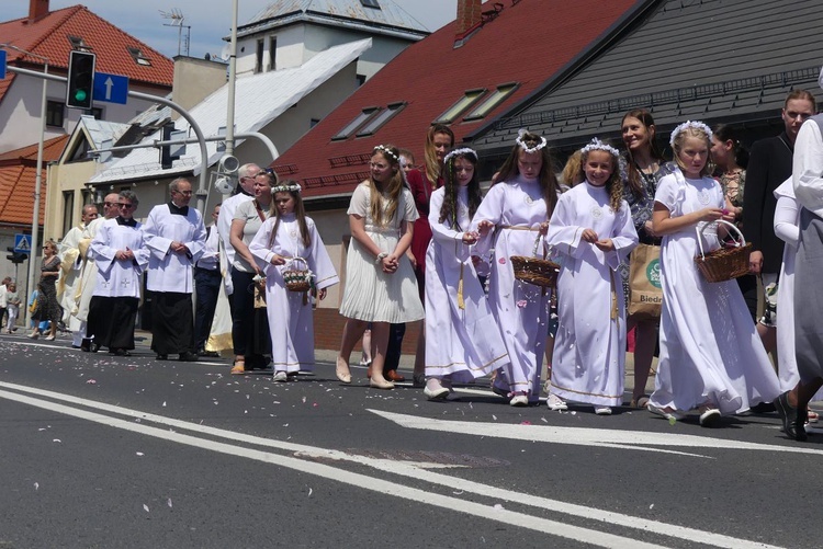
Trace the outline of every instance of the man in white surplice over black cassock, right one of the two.
<instances>
[{"instance_id":1,"label":"man in white surplice over black cassock, right one of the two","mask_svg":"<svg viewBox=\"0 0 823 549\"><path fill-rule=\"evenodd\" d=\"M180 361L196 361L192 312L194 263L205 250L203 217L189 207L192 185L178 178L169 183L171 201L155 206L143 226L151 252L148 289L151 302L151 350L158 361L179 354Z\"/></svg>"}]
</instances>

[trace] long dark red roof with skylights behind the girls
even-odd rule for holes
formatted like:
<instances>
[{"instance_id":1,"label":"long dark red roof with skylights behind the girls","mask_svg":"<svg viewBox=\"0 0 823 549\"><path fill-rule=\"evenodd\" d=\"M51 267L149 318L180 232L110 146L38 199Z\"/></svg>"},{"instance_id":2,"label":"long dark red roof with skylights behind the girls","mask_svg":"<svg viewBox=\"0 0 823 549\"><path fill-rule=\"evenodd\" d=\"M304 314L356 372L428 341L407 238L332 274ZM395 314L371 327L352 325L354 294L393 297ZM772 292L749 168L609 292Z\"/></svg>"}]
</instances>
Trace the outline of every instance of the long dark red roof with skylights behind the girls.
<instances>
[{"instance_id":1,"label":"long dark red roof with skylights behind the girls","mask_svg":"<svg viewBox=\"0 0 823 549\"><path fill-rule=\"evenodd\" d=\"M459 0L458 20L406 48L275 162L309 199L348 201L372 148L410 149L429 126L458 142L578 62L631 18L636 0Z\"/></svg>"}]
</instances>

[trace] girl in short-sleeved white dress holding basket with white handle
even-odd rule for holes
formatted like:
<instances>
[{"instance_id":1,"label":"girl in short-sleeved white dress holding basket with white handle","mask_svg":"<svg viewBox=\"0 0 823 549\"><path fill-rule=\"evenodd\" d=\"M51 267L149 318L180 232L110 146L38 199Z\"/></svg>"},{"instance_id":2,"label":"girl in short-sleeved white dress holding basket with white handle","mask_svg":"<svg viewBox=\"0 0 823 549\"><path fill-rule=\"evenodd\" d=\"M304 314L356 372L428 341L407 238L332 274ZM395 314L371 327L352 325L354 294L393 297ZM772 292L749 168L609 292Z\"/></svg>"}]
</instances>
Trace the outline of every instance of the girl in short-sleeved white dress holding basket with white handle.
<instances>
[{"instance_id":1,"label":"girl in short-sleeved white dress holding basket with white handle","mask_svg":"<svg viewBox=\"0 0 823 549\"><path fill-rule=\"evenodd\" d=\"M654 232L663 235L663 313L649 403L652 413L669 421L698 408L700 425L707 427L780 393L737 283L707 282L695 264L697 239L707 251L719 248L713 221L733 220L720 184L708 173L711 135L700 122L675 128L670 145L679 170L659 181L655 195Z\"/></svg>"}]
</instances>

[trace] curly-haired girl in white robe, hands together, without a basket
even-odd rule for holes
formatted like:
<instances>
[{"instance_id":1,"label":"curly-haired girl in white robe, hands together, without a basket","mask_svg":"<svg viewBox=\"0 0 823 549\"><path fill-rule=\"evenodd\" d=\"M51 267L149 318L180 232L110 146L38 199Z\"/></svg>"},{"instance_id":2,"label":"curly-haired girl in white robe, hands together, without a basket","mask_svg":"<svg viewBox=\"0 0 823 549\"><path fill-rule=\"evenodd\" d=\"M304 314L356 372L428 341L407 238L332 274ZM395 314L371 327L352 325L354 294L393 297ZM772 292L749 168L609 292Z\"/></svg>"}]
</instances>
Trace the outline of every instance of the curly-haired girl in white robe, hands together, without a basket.
<instances>
[{"instance_id":1,"label":"curly-haired girl in white robe, hands together, without a basket","mask_svg":"<svg viewBox=\"0 0 823 549\"><path fill-rule=\"evenodd\" d=\"M625 300L618 270L638 245L638 232L623 199L618 150L595 138L580 152L585 182L561 195L545 238L562 265L550 390L609 415L623 402L625 375Z\"/></svg>"}]
</instances>

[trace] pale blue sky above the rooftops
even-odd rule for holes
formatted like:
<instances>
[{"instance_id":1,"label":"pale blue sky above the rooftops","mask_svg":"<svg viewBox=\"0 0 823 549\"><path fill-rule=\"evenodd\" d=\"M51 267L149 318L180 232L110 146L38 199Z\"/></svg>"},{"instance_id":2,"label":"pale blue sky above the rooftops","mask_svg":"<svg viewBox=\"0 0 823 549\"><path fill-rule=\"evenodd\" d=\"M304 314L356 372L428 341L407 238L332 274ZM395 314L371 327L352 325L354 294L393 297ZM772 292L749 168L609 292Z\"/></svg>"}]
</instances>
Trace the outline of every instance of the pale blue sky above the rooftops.
<instances>
[{"instance_id":1,"label":"pale blue sky above the rooftops","mask_svg":"<svg viewBox=\"0 0 823 549\"><path fill-rule=\"evenodd\" d=\"M178 28L164 26L171 23L161 11L178 9L191 25L189 55L203 57L206 53L219 56L232 27L230 0L52 0L50 10L83 4L110 23L123 28L168 57L178 55ZM238 0L239 25L248 22L272 0ZM456 0L395 0L409 15L429 31L436 31L453 21ZM24 18L29 14L29 0L2 0L0 19ZM217 16L224 13L225 15Z\"/></svg>"}]
</instances>

